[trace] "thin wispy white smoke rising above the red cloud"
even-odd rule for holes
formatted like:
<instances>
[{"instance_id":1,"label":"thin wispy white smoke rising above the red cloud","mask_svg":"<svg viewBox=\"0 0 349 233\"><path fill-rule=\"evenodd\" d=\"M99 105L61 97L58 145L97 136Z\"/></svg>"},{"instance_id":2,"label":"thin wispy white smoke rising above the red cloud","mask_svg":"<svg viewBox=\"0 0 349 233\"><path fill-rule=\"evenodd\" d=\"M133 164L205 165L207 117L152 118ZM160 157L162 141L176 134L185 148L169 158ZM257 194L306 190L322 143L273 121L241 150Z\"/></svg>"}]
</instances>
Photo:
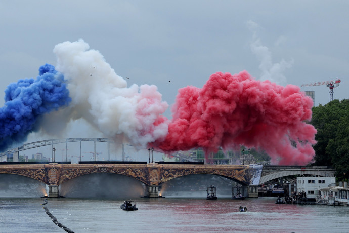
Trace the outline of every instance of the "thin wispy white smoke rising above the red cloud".
<instances>
[{"instance_id":1,"label":"thin wispy white smoke rising above the red cloud","mask_svg":"<svg viewBox=\"0 0 349 233\"><path fill-rule=\"evenodd\" d=\"M261 81L269 80L277 83L278 85L285 86L287 84L287 79L283 73L287 68L292 67L293 59L290 61L281 59L280 62L273 63L272 53L270 52L269 48L264 46L261 43L260 38L257 37L257 32L261 29L261 27L251 20L247 21L246 25L253 33L252 42L250 44L251 51L257 56L258 60L260 60L259 69L261 70L261 74L259 79ZM285 40L286 38L284 36L279 37L276 44L279 45Z\"/></svg>"}]
</instances>

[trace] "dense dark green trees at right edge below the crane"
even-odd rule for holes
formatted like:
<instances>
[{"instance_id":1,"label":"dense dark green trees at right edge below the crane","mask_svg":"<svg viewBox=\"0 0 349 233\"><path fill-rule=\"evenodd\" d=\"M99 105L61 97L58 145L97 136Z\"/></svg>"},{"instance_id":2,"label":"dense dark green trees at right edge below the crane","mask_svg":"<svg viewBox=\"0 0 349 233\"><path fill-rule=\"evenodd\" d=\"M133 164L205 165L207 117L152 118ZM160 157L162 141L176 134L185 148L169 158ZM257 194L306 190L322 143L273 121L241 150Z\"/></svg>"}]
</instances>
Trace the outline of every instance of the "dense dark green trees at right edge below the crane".
<instances>
[{"instance_id":1,"label":"dense dark green trees at right edge below the crane","mask_svg":"<svg viewBox=\"0 0 349 233\"><path fill-rule=\"evenodd\" d=\"M337 174L349 172L349 100L333 100L313 107L311 124L317 129L314 165L334 165Z\"/></svg>"}]
</instances>

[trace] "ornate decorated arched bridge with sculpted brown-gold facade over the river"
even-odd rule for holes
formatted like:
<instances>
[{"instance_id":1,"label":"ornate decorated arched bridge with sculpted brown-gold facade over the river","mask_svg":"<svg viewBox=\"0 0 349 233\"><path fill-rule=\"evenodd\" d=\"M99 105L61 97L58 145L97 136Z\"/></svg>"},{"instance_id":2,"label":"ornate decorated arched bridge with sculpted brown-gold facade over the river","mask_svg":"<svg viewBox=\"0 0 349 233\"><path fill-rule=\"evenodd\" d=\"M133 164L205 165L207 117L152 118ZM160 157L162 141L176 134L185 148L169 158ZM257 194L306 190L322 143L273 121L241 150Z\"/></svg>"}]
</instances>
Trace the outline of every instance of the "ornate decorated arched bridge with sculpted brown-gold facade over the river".
<instances>
[{"instance_id":1,"label":"ornate decorated arched bridge with sculpted brown-gold facade over the river","mask_svg":"<svg viewBox=\"0 0 349 233\"><path fill-rule=\"evenodd\" d=\"M0 164L0 173L17 174L36 179L49 185L49 196L59 196L63 182L92 173L114 173L133 177L146 184L149 197L158 197L158 186L171 179L193 175L214 174L234 180L244 187L251 187L250 197L255 196L259 183L260 165L205 165L205 164ZM253 193L253 194L252 194ZM248 194L248 193L246 193Z\"/></svg>"}]
</instances>

